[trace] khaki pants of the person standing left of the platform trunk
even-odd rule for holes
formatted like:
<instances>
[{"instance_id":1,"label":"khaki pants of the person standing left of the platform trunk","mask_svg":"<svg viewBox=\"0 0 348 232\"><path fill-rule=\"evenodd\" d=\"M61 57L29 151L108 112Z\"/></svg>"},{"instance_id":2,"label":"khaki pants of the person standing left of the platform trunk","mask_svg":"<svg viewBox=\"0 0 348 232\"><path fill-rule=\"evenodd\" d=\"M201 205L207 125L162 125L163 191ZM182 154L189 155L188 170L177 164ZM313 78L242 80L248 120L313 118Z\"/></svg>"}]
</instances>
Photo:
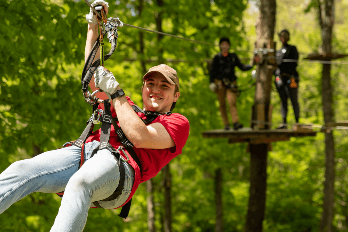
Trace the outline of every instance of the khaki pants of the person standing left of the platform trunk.
<instances>
[{"instance_id":1,"label":"khaki pants of the person standing left of the platform trunk","mask_svg":"<svg viewBox=\"0 0 348 232\"><path fill-rule=\"evenodd\" d=\"M215 84L217 85L217 100L219 100L220 103L220 113L221 113L221 118L222 122L224 125L228 125L228 116L227 116L227 111L226 111L226 97L228 101L228 105L230 107L230 113L232 117L232 123L238 122L238 112L237 112L237 93L233 92L231 89L226 88L221 80L215 79Z\"/></svg>"}]
</instances>

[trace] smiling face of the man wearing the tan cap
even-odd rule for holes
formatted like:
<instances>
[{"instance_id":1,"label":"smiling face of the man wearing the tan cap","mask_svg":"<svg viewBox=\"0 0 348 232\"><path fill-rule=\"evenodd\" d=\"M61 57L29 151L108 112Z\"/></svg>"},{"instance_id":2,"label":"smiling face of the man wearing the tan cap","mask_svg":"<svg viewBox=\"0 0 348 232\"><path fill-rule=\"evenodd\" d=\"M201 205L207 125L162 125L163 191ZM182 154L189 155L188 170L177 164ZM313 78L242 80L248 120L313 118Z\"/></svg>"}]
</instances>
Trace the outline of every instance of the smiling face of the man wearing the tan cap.
<instances>
[{"instance_id":1,"label":"smiling face of the man wearing the tan cap","mask_svg":"<svg viewBox=\"0 0 348 232\"><path fill-rule=\"evenodd\" d=\"M171 109L180 92L175 93L175 85L169 83L160 73L152 73L144 81L143 101L144 109L157 111L159 113L168 112Z\"/></svg>"}]
</instances>

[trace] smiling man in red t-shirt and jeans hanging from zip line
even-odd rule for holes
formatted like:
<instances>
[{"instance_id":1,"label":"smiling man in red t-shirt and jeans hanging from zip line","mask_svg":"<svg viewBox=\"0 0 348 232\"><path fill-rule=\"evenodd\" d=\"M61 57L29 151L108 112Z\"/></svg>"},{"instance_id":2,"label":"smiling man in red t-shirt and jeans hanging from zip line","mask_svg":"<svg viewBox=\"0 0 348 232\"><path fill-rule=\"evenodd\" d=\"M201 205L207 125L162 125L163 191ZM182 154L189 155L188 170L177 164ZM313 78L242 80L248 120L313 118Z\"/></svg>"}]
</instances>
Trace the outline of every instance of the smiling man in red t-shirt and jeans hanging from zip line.
<instances>
[{"instance_id":1,"label":"smiling man in red t-shirt and jeans hanging from zip line","mask_svg":"<svg viewBox=\"0 0 348 232\"><path fill-rule=\"evenodd\" d=\"M97 3L104 5L107 12L108 3ZM86 56L98 37L97 25L90 18L88 22ZM73 145L11 164L0 174L0 214L32 192L64 191L51 231L82 231L90 207L114 209L125 205L140 183L156 176L162 167L181 154L189 135L189 122L181 114L169 112L180 96L179 78L173 68L161 64L150 68L143 77L143 109L156 111L159 115L147 124L142 121L147 115L134 111L133 101L124 95L110 71L99 67L92 80L95 83L90 84L93 91L99 87L111 94L112 117L117 116L117 125L134 145L140 167L127 150L119 152L122 161L116 159L109 149L94 154L93 151L100 146L101 129L97 130L87 138L83 149ZM108 98L105 93L99 94L98 98ZM115 149L122 145L113 126L109 143ZM118 188L120 165L125 169L121 194L116 199L104 201Z\"/></svg>"}]
</instances>

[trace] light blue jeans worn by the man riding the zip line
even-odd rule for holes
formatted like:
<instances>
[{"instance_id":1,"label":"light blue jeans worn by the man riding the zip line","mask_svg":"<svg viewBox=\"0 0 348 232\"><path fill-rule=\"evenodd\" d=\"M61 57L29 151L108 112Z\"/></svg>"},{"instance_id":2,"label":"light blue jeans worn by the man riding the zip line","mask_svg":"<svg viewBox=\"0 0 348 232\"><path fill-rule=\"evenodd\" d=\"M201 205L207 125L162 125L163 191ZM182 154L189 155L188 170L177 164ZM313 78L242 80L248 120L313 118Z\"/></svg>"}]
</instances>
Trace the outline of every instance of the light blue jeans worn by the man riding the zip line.
<instances>
[{"instance_id":1,"label":"light blue jeans worn by the man riding the zip line","mask_svg":"<svg viewBox=\"0 0 348 232\"><path fill-rule=\"evenodd\" d=\"M98 141L85 144L85 163L78 169L81 149L76 146L47 151L31 159L17 161L0 174L0 214L16 201L32 192L64 191L62 203L50 231L82 231L88 209L93 201L106 209L121 206L129 197L134 183L134 169L126 162L126 179L122 194L112 201L109 197L117 188L120 172L118 160L107 149L92 158Z\"/></svg>"}]
</instances>

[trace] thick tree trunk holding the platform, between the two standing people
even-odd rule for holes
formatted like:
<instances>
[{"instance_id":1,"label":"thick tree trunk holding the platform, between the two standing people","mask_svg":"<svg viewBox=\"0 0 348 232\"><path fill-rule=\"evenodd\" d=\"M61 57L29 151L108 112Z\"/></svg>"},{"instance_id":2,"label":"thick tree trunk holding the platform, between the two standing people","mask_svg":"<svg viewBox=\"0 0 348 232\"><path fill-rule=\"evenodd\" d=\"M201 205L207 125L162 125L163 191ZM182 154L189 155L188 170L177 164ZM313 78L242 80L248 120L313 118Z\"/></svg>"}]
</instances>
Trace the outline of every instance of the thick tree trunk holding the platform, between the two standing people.
<instances>
[{"instance_id":1,"label":"thick tree trunk holding the platform, between the two standing people","mask_svg":"<svg viewBox=\"0 0 348 232\"><path fill-rule=\"evenodd\" d=\"M256 25L257 48L275 49L273 36L276 21L276 1L260 1L260 16ZM261 55L261 54L259 54ZM260 63L257 64L257 77L255 86L255 99L252 120L266 122L259 124L254 129L268 129L268 113L271 94L272 74L274 65L268 56L272 53L262 55ZM266 183L267 183L267 152L269 144L250 144L250 196L249 206L245 224L245 232L261 232L264 210L266 205Z\"/></svg>"}]
</instances>

